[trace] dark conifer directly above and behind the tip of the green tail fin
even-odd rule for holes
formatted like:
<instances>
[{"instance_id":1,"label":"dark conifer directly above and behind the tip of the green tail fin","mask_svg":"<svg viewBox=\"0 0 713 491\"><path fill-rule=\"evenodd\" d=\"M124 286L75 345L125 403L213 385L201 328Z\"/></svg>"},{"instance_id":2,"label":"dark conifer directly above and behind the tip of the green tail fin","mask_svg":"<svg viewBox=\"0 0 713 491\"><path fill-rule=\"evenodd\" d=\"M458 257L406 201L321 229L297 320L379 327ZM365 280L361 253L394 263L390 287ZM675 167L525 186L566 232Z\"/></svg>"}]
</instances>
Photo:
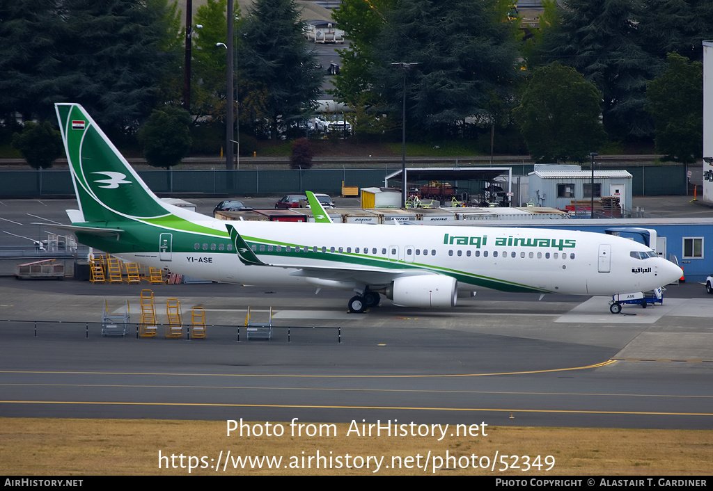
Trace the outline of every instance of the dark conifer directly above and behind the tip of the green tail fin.
<instances>
[{"instance_id":1,"label":"dark conifer directly above and behind the tip of the green tail fin","mask_svg":"<svg viewBox=\"0 0 713 491\"><path fill-rule=\"evenodd\" d=\"M155 106L166 65L158 49L166 0L63 0L63 60L73 71L67 97L98 122L133 130Z\"/></svg>"}]
</instances>

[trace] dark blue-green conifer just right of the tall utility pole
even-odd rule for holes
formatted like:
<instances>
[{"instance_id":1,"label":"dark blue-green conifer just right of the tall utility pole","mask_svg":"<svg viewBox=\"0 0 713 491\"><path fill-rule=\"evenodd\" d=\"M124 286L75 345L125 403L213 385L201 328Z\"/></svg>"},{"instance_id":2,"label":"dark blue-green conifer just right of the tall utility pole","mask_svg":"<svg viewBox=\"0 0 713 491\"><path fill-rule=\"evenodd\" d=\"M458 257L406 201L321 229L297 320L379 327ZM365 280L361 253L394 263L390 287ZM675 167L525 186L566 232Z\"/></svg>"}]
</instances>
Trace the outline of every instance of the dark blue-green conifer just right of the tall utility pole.
<instances>
[{"instance_id":1,"label":"dark blue-green conifer just right of the tall utility pole","mask_svg":"<svg viewBox=\"0 0 713 491\"><path fill-rule=\"evenodd\" d=\"M265 118L272 138L290 120L312 112L322 85L303 30L294 0L256 0L240 26L240 76L267 96Z\"/></svg>"}]
</instances>

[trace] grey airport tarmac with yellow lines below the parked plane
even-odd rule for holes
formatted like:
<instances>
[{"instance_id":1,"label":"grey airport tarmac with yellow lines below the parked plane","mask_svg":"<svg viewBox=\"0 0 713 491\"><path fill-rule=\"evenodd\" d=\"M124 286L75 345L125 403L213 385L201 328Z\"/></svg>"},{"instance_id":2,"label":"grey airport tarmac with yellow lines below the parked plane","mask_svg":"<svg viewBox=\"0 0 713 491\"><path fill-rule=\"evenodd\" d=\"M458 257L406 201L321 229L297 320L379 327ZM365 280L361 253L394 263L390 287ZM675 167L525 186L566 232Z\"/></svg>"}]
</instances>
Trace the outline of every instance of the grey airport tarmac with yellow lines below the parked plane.
<instances>
[{"instance_id":1,"label":"grey airport tarmac with yellow lines below the parked plane","mask_svg":"<svg viewBox=\"0 0 713 491\"><path fill-rule=\"evenodd\" d=\"M138 319L145 288L158 322L171 297L184 319L204 307L207 337L103 338L91 323L105 300ZM700 284L622 314L605 298L491 291L454 309L384 300L347 314L347 296L2 278L0 416L713 428L713 297ZM256 319L273 309L272 340L247 341L248 306Z\"/></svg>"}]
</instances>

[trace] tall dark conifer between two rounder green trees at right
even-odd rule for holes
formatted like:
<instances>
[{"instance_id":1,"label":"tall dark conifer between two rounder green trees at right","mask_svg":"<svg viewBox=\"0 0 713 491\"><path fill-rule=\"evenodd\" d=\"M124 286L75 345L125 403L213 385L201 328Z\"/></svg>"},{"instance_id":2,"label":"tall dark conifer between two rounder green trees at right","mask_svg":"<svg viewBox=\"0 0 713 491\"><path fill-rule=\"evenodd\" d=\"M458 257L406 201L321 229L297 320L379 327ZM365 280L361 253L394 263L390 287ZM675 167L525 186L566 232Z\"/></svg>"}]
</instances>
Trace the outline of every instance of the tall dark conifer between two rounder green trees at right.
<instances>
[{"instance_id":1,"label":"tall dark conifer between two rounder green trees at right","mask_svg":"<svg viewBox=\"0 0 713 491\"><path fill-rule=\"evenodd\" d=\"M650 135L646 82L660 73L662 62L642 46L643 0L565 0L564 5L560 31L546 40L551 59L572 66L602 91L607 133Z\"/></svg>"}]
</instances>

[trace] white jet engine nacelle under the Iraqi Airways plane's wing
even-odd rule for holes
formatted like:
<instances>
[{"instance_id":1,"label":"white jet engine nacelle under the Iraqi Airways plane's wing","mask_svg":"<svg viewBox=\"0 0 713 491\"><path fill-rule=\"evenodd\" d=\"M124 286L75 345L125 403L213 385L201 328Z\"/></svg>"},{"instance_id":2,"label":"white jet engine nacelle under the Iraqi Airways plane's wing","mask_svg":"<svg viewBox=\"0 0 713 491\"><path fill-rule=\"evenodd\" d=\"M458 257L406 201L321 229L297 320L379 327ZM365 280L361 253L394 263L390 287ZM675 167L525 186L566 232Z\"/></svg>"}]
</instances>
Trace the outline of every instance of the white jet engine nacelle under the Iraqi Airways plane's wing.
<instances>
[{"instance_id":1,"label":"white jet engine nacelle under the Iraqi Airways plane's wing","mask_svg":"<svg viewBox=\"0 0 713 491\"><path fill-rule=\"evenodd\" d=\"M396 278L386 296L403 307L452 307L458 297L457 281L442 274Z\"/></svg>"}]
</instances>

